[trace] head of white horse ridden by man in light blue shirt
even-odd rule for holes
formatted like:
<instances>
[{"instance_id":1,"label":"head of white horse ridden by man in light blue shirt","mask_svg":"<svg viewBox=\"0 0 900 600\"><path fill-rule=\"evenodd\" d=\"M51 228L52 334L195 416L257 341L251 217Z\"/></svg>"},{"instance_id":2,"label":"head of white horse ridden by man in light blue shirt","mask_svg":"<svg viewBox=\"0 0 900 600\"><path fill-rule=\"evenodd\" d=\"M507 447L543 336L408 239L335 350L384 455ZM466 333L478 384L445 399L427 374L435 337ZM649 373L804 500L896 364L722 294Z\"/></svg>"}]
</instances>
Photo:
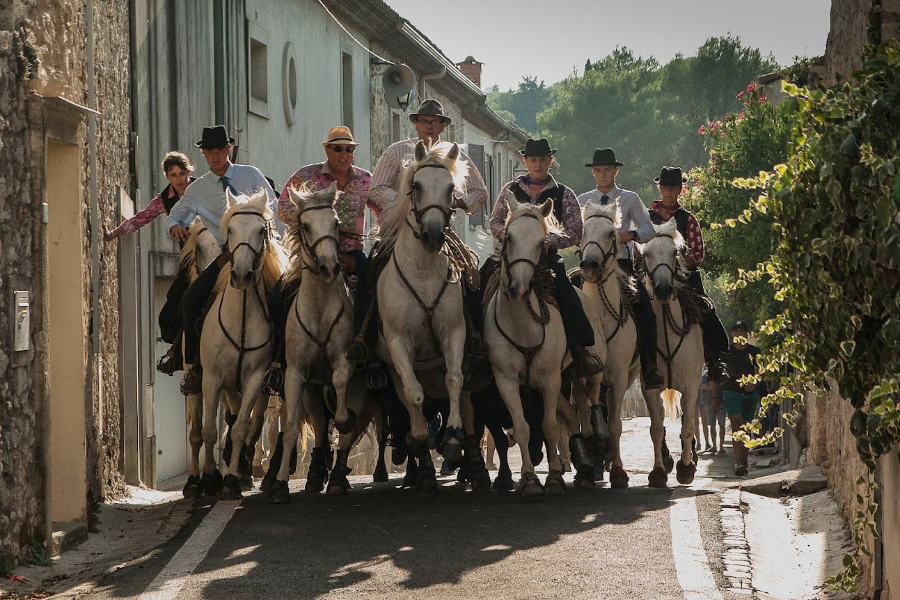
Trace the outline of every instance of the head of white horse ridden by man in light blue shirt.
<instances>
[{"instance_id":1,"label":"head of white horse ridden by man in light blue shirt","mask_svg":"<svg viewBox=\"0 0 900 600\"><path fill-rule=\"evenodd\" d=\"M225 199L228 208L221 230L231 254L231 286L246 289L253 285L268 252L273 215L264 191L250 197L226 191Z\"/></svg>"}]
</instances>

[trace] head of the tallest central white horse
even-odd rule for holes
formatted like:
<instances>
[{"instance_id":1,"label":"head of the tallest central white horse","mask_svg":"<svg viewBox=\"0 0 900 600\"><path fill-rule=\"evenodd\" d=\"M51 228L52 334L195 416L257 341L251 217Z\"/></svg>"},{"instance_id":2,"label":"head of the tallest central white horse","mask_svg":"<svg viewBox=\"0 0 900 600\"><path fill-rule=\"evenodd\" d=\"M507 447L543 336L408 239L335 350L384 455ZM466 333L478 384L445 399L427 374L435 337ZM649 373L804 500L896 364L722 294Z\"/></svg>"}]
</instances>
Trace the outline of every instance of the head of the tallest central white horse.
<instances>
[{"instance_id":1,"label":"head of the tallest central white horse","mask_svg":"<svg viewBox=\"0 0 900 600\"><path fill-rule=\"evenodd\" d=\"M459 160L458 144L426 146L421 140L414 158L404 174L409 212L416 220L416 226L410 226L428 252L437 252L444 244L444 230L450 226L453 191L462 185L465 163Z\"/></svg>"}]
</instances>

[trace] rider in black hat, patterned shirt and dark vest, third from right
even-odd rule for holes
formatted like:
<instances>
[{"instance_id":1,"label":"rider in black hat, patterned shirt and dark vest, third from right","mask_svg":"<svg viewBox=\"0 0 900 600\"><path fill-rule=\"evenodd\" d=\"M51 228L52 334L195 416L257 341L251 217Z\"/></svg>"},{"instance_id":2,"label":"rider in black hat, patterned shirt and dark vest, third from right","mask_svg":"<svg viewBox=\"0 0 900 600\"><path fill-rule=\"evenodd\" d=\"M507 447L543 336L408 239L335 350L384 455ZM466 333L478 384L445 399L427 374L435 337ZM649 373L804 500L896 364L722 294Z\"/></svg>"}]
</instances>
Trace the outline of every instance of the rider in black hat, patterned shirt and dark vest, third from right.
<instances>
[{"instance_id":1,"label":"rider in black hat, patterned shirt and dark vest, third from right","mask_svg":"<svg viewBox=\"0 0 900 600\"><path fill-rule=\"evenodd\" d=\"M562 257L557 253L557 250L574 246L581 240L581 209L575 192L557 183L550 175L550 165L553 164L555 152L546 139L529 139L525 142L525 149L520 150L519 154L525 159L528 174L510 181L500 190L498 201L494 204L494 212L491 214L491 233L499 243L503 242L506 217L509 215L509 207L504 200L507 192L511 191L521 204L543 204L548 199L553 201L553 214L563 230L550 234L550 245L546 253L547 266L554 273L556 299L559 302L559 312L566 330L572 360L579 373L589 377L603 370L599 357L587 350L595 343L594 328L584 313L575 287L566 276L566 266Z\"/></svg>"}]
</instances>

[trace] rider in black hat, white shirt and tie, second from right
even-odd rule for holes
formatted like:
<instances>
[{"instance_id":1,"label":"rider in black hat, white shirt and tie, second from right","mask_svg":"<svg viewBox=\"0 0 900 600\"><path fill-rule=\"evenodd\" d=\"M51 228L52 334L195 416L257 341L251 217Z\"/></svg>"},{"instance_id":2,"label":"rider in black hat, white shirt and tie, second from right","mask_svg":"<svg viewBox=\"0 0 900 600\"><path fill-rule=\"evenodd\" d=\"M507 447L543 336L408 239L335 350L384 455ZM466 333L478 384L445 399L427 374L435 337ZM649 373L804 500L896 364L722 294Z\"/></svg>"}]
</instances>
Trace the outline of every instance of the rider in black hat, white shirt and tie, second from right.
<instances>
[{"instance_id":1,"label":"rider in black hat, white shirt and tie, second from right","mask_svg":"<svg viewBox=\"0 0 900 600\"><path fill-rule=\"evenodd\" d=\"M646 243L654 238L656 230L650 221L647 207L640 196L630 190L623 190L616 185L616 175L624 163L616 160L612 148L597 148L593 160L584 166L590 167L597 187L578 196L578 202L584 206L588 202L618 205L621 213L619 224L619 266L628 274L634 273L634 257L636 250L633 242ZM635 325L641 354L641 371L647 389L663 386L663 376L656 366L656 313L650 301L650 294L644 287L640 277L635 278L638 288L638 302L634 304Z\"/></svg>"}]
</instances>

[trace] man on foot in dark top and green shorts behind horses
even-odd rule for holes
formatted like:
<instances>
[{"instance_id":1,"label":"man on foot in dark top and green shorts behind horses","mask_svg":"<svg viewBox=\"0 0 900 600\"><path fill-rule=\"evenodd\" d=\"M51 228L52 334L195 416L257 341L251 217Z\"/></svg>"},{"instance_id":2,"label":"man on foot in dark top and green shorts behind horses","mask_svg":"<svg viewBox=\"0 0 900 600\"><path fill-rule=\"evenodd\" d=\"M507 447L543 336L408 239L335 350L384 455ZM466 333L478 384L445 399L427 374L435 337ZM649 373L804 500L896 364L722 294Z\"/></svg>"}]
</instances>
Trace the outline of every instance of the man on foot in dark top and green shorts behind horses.
<instances>
[{"instance_id":1,"label":"man on foot in dark top and green shorts behind horses","mask_svg":"<svg viewBox=\"0 0 900 600\"><path fill-rule=\"evenodd\" d=\"M727 379L725 380L725 412L731 421L731 431L736 432L756 416L759 410L759 393L755 383L741 383L745 375L756 373L755 360L759 348L749 343L750 328L743 321L731 326L731 350L725 356ZM733 437L733 434L732 434ZM732 441L734 448L734 474L747 475L747 457L750 451L738 440Z\"/></svg>"}]
</instances>

